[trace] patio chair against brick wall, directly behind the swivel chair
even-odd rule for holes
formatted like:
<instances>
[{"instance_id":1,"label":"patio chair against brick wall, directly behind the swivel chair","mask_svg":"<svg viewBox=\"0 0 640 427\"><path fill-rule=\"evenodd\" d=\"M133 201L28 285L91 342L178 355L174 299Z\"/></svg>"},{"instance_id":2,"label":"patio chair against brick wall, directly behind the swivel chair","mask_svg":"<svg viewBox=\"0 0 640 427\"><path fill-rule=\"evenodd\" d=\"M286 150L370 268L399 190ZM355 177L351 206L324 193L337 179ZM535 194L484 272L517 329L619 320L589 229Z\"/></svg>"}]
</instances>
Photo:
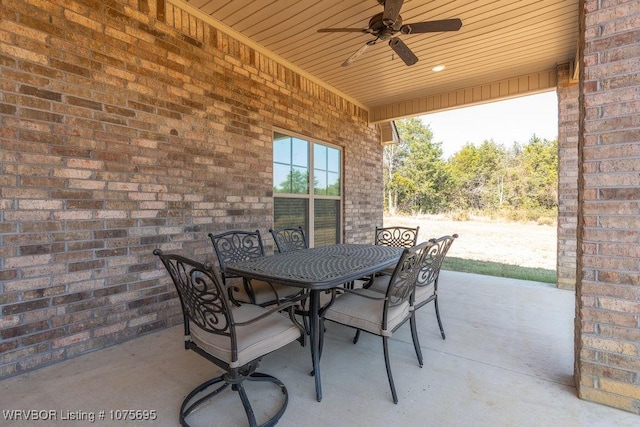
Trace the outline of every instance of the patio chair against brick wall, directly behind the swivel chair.
<instances>
[{"instance_id":1,"label":"patio chair against brick wall, directly behind the swivel chair","mask_svg":"<svg viewBox=\"0 0 640 427\"><path fill-rule=\"evenodd\" d=\"M218 257L222 281L230 290L231 299L238 302L250 302L263 307L278 304L295 297L302 291L292 286L249 280L225 273L225 266L231 262L245 261L264 256L264 246L260 231L233 230L220 234L209 233L213 249ZM232 287L232 280L242 281L242 288Z\"/></svg>"}]
</instances>

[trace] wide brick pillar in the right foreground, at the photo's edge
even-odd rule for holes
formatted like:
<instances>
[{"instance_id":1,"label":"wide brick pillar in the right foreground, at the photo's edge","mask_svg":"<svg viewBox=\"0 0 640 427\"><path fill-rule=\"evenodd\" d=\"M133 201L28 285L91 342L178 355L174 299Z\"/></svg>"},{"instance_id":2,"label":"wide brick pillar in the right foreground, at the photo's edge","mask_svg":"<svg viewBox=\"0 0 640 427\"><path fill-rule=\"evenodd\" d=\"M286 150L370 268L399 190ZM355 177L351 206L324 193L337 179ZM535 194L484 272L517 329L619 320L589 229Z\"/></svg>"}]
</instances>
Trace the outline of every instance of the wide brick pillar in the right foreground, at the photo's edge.
<instances>
[{"instance_id":1,"label":"wide brick pillar in the right foreground, at the photo's edge","mask_svg":"<svg viewBox=\"0 0 640 427\"><path fill-rule=\"evenodd\" d=\"M582 6L576 383L640 414L640 2Z\"/></svg>"}]
</instances>

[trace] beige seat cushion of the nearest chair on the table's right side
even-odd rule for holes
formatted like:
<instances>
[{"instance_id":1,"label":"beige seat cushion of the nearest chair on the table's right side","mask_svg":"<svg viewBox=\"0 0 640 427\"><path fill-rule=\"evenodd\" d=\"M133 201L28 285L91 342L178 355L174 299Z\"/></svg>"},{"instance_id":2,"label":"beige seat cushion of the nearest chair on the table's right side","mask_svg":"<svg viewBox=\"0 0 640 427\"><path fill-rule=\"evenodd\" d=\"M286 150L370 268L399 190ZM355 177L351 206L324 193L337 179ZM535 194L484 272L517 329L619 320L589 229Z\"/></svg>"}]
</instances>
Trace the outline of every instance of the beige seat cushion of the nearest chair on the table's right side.
<instances>
[{"instance_id":1,"label":"beige seat cushion of the nearest chair on the table's right side","mask_svg":"<svg viewBox=\"0 0 640 427\"><path fill-rule=\"evenodd\" d=\"M384 300L373 300L361 297L358 294L370 295L377 298L383 295L370 289L358 289L355 293L347 293L337 298L326 311L325 318L342 323L354 328L362 329L372 334L391 336L397 326L401 325L409 317L409 303L404 302L396 307L389 308L387 314L387 328L382 329L382 314Z\"/></svg>"}]
</instances>

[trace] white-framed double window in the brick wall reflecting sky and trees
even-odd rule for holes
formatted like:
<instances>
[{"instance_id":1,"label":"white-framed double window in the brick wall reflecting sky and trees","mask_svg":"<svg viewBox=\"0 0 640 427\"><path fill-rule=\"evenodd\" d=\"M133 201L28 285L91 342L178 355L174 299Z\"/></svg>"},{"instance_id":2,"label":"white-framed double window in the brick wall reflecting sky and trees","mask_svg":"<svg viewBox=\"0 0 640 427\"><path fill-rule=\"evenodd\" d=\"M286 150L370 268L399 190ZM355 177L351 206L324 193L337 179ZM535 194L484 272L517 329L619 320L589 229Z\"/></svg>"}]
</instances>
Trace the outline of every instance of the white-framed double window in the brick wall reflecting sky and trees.
<instances>
[{"instance_id":1,"label":"white-framed double window in the brick wall reflecting sky and trees","mask_svg":"<svg viewBox=\"0 0 640 427\"><path fill-rule=\"evenodd\" d=\"M341 156L327 144L274 133L274 228L302 226L309 246L341 241Z\"/></svg>"}]
</instances>

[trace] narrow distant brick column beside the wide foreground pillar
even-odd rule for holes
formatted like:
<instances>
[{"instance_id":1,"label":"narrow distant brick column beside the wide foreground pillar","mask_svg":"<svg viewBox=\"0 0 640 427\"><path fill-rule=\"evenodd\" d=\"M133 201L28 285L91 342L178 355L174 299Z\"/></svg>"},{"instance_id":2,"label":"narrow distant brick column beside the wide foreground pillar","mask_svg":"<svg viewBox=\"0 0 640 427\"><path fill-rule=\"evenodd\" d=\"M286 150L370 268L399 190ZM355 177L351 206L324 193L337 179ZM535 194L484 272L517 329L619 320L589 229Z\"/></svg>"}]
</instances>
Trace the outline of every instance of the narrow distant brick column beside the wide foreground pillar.
<instances>
[{"instance_id":1,"label":"narrow distant brick column beside the wide foreground pillar","mask_svg":"<svg viewBox=\"0 0 640 427\"><path fill-rule=\"evenodd\" d=\"M558 65L558 287L576 288L578 95L569 63Z\"/></svg>"}]
</instances>

